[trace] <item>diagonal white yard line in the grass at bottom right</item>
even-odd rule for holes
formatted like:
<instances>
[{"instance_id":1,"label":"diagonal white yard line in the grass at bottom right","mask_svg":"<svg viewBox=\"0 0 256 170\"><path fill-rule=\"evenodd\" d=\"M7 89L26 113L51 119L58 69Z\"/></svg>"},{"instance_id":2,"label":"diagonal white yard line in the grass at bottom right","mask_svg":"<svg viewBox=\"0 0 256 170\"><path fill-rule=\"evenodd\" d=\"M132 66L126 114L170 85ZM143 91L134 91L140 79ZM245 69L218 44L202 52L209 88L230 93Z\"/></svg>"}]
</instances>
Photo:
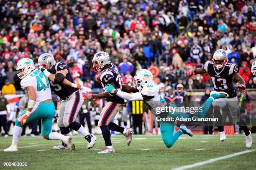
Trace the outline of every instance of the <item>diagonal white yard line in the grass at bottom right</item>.
<instances>
[{"instance_id":1,"label":"diagonal white yard line in the grass at bottom right","mask_svg":"<svg viewBox=\"0 0 256 170\"><path fill-rule=\"evenodd\" d=\"M224 159L227 159L227 158L230 158L230 157L235 157L235 156L238 156L238 155L242 155L242 154L249 153L249 152L254 152L254 151L256 151L256 149L245 150L243 152L237 152L237 153L233 153L233 154L230 154L230 155L225 155L225 156L222 156L222 157L216 157L216 158L213 158L213 159L210 159L210 160L197 162L197 163L194 163L194 164L191 164L191 165L185 165L185 166L182 166L182 167L177 167L177 168L174 168L172 170L185 170L185 169L188 169L188 168L205 165L205 164L208 164L208 163L216 162L218 160L224 160Z\"/></svg>"}]
</instances>

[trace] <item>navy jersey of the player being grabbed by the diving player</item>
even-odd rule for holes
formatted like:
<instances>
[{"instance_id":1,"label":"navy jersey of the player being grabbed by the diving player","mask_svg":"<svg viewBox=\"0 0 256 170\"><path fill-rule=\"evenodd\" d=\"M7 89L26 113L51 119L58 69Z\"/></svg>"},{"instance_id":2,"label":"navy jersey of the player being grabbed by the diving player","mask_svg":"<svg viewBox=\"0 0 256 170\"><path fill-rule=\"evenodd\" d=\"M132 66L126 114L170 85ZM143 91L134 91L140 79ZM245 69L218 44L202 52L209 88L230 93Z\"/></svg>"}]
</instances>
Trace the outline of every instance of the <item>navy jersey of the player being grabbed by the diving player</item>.
<instances>
[{"instance_id":1,"label":"navy jersey of the player being grabbed by the diving player","mask_svg":"<svg viewBox=\"0 0 256 170\"><path fill-rule=\"evenodd\" d=\"M122 90L122 78L119 74L117 66L115 64L110 63L110 67L103 70L102 73L100 74L100 82L102 84L102 88L105 90L105 85L108 83L114 83L115 84L115 89L117 90ZM114 103L120 103L124 104L124 99L119 97L116 94L111 94L112 96L107 98L107 101L112 101Z\"/></svg>"}]
</instances>

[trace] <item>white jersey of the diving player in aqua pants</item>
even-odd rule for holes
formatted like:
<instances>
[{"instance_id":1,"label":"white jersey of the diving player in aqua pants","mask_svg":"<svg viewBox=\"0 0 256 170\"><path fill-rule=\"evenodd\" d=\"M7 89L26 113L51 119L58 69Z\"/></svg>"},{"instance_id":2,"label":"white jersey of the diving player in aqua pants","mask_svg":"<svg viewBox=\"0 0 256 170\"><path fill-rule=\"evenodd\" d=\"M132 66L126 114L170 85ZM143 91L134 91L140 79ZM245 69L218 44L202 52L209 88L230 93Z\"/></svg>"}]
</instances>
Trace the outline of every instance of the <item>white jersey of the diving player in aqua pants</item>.
<instances>
[{"instance_id":1,"label":"white jersey of the diving player in aqua pants","mask_svg":"<svg viewBox=\"0 0 256 170\"><path fill-rule=\"evenodd\" d=\"M147 100L143 101L146 104L146 106L148 107L148 109L151 111L151 113L154 115L156 115L157 107L166 107L166 105L167 105L166 101L164 99L164 96L162 96L160 93L159 86L154 82L144 86L140 90L140 93L145 96L154 96L153 99L147 99Z\"/></svg>"}]
</instances>

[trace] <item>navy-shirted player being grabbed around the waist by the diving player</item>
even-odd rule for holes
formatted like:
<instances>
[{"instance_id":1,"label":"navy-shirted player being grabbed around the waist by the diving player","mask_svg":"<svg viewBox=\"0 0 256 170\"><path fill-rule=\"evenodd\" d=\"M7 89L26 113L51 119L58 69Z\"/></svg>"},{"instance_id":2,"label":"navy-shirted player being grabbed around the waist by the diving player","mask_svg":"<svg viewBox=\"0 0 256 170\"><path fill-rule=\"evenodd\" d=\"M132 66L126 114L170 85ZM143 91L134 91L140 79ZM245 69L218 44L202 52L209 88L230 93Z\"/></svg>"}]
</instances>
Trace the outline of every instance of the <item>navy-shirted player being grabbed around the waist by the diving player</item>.
<instances>
[{"instance_id":1,"label":"navy-shirted player being grabbed around the waist by the diving player","mask_svg":"<svg viewBox=\"0 0 256 170\"><path fill-rule=\"evenodd\" d=\"M92 69L95 72L101 72L101 74L99 74L97 77L97 81L101 82L104 91L106 84L112 84L116 89L121 89L122 78L119 74L118 68L115 66L115 64L111 63L108 53L104 51L97 52L93 57L92 65ZM130 145L133 129L124 128L118 126L114 122L111 122L115 115L123 110L124 99L108 92L104 92L102 94L92 94L91 92L87 91L83 93L83 96L85 100L106 98L108 101L107 104L105 104L105 107L102 109L100 120L98 122L98 127L100 127L102 136L105 140L105 148L98 153L115 152L110 140L109 130L122 133L126 137L127 145Z\"/></svg>"}]
</instances>

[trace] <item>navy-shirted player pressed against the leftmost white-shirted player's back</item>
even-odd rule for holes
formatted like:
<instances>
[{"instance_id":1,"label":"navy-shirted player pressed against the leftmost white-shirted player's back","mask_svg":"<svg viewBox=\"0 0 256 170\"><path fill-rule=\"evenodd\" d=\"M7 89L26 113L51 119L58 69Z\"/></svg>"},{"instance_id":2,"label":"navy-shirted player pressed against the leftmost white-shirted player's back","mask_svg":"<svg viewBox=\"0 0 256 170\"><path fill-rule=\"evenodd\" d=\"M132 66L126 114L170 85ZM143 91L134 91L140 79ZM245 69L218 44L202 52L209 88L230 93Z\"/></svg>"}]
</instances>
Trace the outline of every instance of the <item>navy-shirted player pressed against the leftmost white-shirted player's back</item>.
<instances>
[{"instance_id":1,"label":"navy-shirted player pressed against the leftmost white-shirted player's back","mask_svg":"<svg viewBox=\"0 0 256 170\"><path fill-rule=\"evenodd\" d=\"M70 129L73 129L87 140L87 148L92 148L97 137L87 132L79 122L75 121L84 100L82 92L79 90L81 86L74 83L69 67L61 61L56 63L54 56L50 53L43 53L39 56L38 66L38 69L50 80L51 90L61 98L59 117L57 119L61 134L67 136L70 134ZM65 143L53 147L53 149L67 148L68 146Z\"/></svg>"}]
</instances>

